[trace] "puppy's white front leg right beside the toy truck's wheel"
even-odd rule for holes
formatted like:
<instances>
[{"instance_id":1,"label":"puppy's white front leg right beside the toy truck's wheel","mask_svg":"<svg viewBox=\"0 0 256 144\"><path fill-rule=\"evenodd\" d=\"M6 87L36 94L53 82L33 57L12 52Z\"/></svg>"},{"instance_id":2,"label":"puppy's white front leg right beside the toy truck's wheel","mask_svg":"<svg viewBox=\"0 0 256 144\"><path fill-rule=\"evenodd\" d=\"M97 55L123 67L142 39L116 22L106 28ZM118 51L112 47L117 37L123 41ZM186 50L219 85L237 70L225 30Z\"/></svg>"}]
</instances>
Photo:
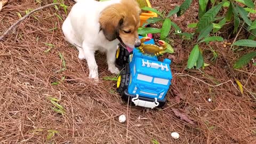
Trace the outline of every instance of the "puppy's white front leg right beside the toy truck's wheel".
<instances>
[{"instance_id":1,"label":"puppy's white front leg right beside the toy truck's wheel","mask_svg":"<svg viewBox=\"0 0 256 144\"><path fill-rule=\"evenodd\" d=\"M116 60L116 49L108 49L107 51L107 63L108 63L108 70L112 74L119 74L119 69L115 66Z\"/></svg>"}]
</instances>

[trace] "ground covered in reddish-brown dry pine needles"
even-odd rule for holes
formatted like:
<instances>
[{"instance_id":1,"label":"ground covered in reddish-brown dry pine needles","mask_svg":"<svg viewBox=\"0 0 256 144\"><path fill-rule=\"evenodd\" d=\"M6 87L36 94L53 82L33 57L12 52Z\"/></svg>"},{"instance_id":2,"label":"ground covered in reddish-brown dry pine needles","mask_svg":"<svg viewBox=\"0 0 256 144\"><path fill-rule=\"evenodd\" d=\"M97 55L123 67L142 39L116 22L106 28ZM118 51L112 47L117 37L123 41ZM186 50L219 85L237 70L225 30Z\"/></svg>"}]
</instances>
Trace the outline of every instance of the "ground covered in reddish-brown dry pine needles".
<instances>
[{"instance_id":1,"label":"ground covered in reddish-brown dry pine needles","mask_svg":"<svg viewBox=\"0 0 256 144\"><path fill-rule=\"evenodd\" d=\"M159 10L181 3L150 2L157 9L161 7ZM9 0L0 12L0 35L19 20L19 13L24 16L26 10L50 3ZM74 2L65 4L69 11ZM0 143L256 143L255 67L229 69L244 52L234 53L229 46L212 43L218 58L211 61L209 47L201 45L210 66L203 73L187 71L193 46L173 37L175 59L168 102L162 109L134 107L116 93L115 81L102 79L114 76L107 71L105 54L97 53L100 83L95 85L87 78L86 61L78 60L77 50L63 39L63 21L54 13L62 20L67 17L63 9L43 9L0 42ZM197 21L196 15L194 1L185 15L172 17L172 21L190 32L187 25ZM66 69L58 72L63 68L60 55ZM243 94L234 78L244 85ZM59 99L64 115L52 109L49 97ZM127 116L122 124L118 122L121 114ZM180 138L172 139L171 132L178 132Z\"/></svg>"}]
</instances>

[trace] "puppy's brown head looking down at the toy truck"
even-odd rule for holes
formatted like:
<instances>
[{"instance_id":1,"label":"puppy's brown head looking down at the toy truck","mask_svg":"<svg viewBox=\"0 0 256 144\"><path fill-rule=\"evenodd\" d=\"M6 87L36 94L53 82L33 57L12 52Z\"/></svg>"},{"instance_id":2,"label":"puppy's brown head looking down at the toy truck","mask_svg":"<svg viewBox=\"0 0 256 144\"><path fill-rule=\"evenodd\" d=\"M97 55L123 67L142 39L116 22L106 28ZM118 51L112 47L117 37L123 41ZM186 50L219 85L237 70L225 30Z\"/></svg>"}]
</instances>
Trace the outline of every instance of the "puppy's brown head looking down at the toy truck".
<instances>
[{"instance_id":1,"label":"puppy's brown head looking down at the toy truck","mask_svg":"<svg viewBox=\"0 0 256 144\"><path fill-rule=\"evenodd\" d=\"M121 0L106 7L100 15L100 28L109 41L118 38L127 50L140 46L138 28L141 9L136 0Z\"/></svg>"}]
</instances>

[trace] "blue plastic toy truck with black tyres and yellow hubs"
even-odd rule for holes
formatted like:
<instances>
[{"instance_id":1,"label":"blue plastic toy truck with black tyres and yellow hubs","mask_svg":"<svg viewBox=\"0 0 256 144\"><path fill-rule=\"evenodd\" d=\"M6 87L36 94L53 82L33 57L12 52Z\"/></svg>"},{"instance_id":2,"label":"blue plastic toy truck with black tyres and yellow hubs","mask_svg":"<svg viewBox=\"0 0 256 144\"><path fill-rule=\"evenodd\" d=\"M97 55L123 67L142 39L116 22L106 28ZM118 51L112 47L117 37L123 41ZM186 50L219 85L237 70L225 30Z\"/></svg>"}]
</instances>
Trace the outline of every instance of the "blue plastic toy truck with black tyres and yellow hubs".
<instances>
[{"instance_id":1,"label":"blue plastic toy truck with black tyres and yellow hubs","mask_svg":"<svg viewBox=\"0 0 256 144\"><path fill-rule=\"evenodd\" d=\"M155 44L154 39L145 44ZM142 54L138 49L129 53L120 45L116 63L122 67L117 78L117 92L125 101L130 99L135 106L152 109L165 105L172 79L170 59L161 62L156 56Z\"/></svg>"}]
</instances>

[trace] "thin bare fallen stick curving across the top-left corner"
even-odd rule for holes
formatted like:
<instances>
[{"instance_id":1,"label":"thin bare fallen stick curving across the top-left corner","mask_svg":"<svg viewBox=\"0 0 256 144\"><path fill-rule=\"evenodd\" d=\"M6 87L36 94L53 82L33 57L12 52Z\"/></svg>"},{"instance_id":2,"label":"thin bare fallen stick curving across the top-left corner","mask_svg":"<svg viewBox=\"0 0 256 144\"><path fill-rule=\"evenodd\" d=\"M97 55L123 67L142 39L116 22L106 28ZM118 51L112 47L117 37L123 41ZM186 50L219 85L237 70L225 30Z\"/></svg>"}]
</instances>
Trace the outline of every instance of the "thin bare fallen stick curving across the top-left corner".
<instances>
[{"instance_id":1,"label":"thin bare fallen stick curving across the top-left corner","mask_svg":"<svg viewBox=\"0 0 256 144\"><path fill-rule=\"evenodd\" d=\"M3 38L4 38L8 33L10 33L10 31L11 31L13 28L15 28L21 21L23 21L23 20L25 20L26 18L28 18L31 14L33 14L33 13L39 11L39 10L42 10L42 9L44 9L44 8L46 8L46 7L53 6L53 5L59 5L59 3L52 3L52 4L48 4L48 5L42 6L42 7L38 7L37 9L35 9L35 10L29 12L28 14L26 14L24 17L20 18L20 19L19 19L17 22L15 22L9 29L7 29L7 30L5 31L5 33L4 33L2 36L0 36L0 41L3 41Z\"/></svg>"}]
</instances>

